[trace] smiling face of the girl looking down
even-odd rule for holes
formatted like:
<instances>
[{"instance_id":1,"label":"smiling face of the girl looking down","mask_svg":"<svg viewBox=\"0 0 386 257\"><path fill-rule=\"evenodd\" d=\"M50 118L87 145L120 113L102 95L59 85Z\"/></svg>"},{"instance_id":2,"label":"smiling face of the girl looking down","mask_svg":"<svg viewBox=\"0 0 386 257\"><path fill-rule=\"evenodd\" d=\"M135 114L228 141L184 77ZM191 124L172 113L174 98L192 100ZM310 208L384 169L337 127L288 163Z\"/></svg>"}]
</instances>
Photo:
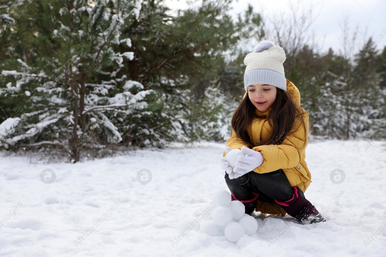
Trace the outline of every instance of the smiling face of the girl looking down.
<instances>
[{"instance_id":1,"label":"smiling face of the girl looking down","mask_svg":"<svg viewBox=\"0 0 386 257\"><path fill-rule=\"evenodd\" d=\"M248 96L252 104L261 112L270 109L276 99L276 87L268 84L248 86ZM263 102L260 104L260 102Z\"/></svg>"}]
</instances>

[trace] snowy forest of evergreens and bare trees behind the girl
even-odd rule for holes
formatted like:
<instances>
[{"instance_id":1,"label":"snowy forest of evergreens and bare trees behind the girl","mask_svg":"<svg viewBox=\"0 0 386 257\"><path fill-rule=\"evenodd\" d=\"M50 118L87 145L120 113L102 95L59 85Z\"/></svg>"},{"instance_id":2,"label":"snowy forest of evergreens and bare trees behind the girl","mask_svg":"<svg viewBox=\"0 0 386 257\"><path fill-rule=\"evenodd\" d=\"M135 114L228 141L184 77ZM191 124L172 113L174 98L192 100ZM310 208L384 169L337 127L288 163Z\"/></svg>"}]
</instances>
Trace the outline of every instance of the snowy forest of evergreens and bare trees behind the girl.
<instances>
[{"instance_id":1,"label":"snowy forest of evergreens and bare trees behind the girl","mask_svg":"<svg viewBox=\"0 0 386 257\"><path fill-rule=\"evenodd\" d=\"M285 50L310 137L371 147L384 136L386 32L361 42L345 20L343 51L322 52L312 7L269 19L249 5L234 19L231 2L173 12L162 0L0 1L0 147L77 162L223 142L261 40Z\"/></svg>"}]
</instances>

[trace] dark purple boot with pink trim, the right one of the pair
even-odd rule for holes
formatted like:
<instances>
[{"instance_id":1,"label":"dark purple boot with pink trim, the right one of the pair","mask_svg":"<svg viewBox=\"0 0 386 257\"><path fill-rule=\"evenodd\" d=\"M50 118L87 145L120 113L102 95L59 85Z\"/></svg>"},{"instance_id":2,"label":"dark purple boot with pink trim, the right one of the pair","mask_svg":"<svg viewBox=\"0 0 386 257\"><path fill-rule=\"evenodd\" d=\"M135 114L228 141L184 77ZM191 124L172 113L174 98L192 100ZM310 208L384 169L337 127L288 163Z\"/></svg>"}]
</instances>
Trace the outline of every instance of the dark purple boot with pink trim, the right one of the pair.
<instances>
[{"instance_id":1,"label":"dark purple boot with pink trim, the right one of the pair","mask_svg":"<svg viewBox=\"0 0 386 257\"><path fill-rule=\"evenodd\" d=\"M291 199L285 202L275 200L275 202L283 208L286 213L305 224L326 221L325 218L320 215L315 206L313 206L312 203L304 197L303 191L301 191L300 188L297 186L293 186L292 188L295 190L295 193Z\"/></svg>"}]
</instances>

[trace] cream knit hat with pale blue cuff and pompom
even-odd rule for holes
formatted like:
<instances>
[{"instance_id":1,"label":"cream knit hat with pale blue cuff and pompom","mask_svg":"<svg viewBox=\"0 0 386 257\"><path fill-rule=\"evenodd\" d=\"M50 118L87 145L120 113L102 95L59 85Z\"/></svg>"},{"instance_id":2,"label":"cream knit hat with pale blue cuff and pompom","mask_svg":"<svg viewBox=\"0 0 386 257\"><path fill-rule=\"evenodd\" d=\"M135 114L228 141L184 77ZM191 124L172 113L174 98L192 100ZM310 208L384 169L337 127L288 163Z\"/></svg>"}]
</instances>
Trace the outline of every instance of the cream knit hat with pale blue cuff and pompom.
<instances>
[{"instance_id":1,"label":"cream knit hat with pale blue cuff and pompom","mask_svg":"<svg viewBox=\"0 0 386 257\"><path fill-rule=\"evenodd\" d=\"M269 84L284 91L287 90L287 82L284 77L283 62L286 54L278 45L264 40L255 46L253 52L244 58L247 66L244 72L244 89L253 84Z\"/></svg>"}]
</instances>

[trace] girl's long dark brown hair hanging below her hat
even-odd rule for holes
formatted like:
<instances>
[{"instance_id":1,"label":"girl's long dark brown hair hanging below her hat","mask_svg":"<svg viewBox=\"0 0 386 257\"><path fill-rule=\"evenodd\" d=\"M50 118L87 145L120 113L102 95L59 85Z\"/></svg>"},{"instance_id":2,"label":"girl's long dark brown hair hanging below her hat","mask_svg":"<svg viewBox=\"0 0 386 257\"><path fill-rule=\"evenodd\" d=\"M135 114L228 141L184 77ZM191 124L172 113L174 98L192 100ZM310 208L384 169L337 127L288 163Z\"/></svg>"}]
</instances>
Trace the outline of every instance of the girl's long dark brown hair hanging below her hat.
<instances>
[{"instance_id":1,"label":"girl's long dark brown hair hanging below her hat","mask_svg":"<svg viewBox=\"0 0 386 257\"><path fill-rule=\"evenodd\" d=\"M303 115L305 109L301 108L298 104L292 101L291 95L293 93L288 90L284 92L278 87L276 87L276 90L276 99L273 106L269 109L267 117L269 126L271 126L273 130L271 134L267 138L262 139L259 144L256 145L255 142L252 142L249 134L247 133L247 128L251 125L253 119L255 117L259 118L255 114L256 107L252 104L251 100L249 100L248 94L240 102L232 116L232 129L235 131L236 135L251 149L260 145L280 144L284 140L285 136L289 133L297 131L300 128L300 123L294 124L295 117L299 116L303 123L303 127L305 128L306 126L304 122L305 117ZM304 131L304 141L306 141L306 129ZM305 143L306 142L304 142L303 147Z\"/></svg>"}]
</instances>

